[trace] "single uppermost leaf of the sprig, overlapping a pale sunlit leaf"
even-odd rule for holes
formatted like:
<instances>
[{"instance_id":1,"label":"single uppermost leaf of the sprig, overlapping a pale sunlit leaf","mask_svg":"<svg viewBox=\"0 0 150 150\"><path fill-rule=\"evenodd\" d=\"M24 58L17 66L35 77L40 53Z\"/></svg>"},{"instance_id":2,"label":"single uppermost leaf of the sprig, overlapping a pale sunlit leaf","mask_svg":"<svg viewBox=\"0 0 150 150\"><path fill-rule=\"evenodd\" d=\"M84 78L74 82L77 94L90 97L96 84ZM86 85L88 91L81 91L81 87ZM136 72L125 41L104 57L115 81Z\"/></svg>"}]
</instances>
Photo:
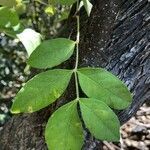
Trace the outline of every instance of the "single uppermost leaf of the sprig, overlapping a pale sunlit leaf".
<instances>
[{"instance_id":1,"label":"single uppermost leaf of the sprig, overlapping a pale sunlit leaf","mask_svg":"<svg viewBox=\"0 0 150 150\"><path fill-rule=\"evenodd\" d=\"M31 54L28 64L35 68L51 68L71 57L75 42L57 38L42 42Z\"/></svg>"}]
</instances>

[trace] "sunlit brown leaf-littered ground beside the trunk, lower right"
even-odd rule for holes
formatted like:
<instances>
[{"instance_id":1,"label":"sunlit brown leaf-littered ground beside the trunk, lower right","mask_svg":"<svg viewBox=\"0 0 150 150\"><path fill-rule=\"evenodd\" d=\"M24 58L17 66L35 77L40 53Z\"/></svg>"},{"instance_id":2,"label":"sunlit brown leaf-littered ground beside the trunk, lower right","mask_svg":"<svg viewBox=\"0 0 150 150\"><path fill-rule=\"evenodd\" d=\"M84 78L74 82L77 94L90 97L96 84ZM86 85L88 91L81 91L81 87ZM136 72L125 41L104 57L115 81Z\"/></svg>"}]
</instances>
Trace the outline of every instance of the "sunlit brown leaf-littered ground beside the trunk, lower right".
<instances>
[{"instance_id":1,"label":"sunlit brown leaf-littered ground beside the trunk, lower right","mask_svg":"<svg viewBox=\"0 0 150 150\"><path fill-rule=\"evenodd\" d=\"M144 104L134 117L121 127L119 144L104 142L104 150L149 150L150 107Z\"/></svg>"}]
</instances>

